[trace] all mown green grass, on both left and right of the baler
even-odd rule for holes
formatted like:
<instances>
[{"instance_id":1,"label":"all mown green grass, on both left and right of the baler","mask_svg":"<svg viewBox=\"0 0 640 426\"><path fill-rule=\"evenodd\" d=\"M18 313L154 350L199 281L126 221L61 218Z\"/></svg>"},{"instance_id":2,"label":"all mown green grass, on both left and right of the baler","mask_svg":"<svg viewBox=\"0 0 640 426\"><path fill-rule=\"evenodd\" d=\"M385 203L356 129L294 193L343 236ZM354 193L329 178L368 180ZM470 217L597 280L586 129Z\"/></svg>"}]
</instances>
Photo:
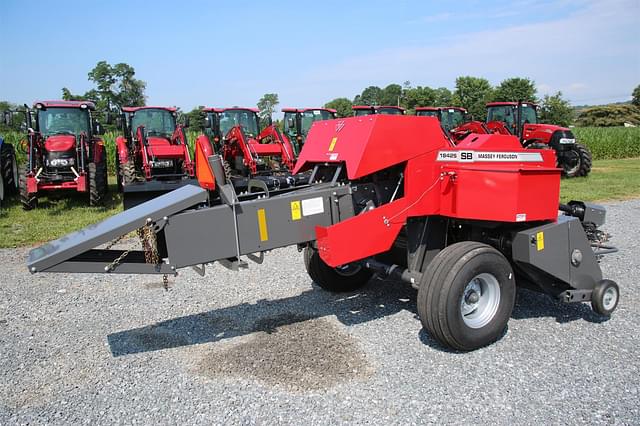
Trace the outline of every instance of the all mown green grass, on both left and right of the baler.
<instances>
[{"instance_id":1,"label":"all mown green grass, on both left and right of the baler","mask_svg":"<svg viewBox=\"0 0 640 426\"><path fill-rule=\"evenodd\" d=\"M89 207L79 194L42 197L40 206L28 212L22 210L16 199L10 200L0 212L0 247L49 241L119 213L122 199L113 178L110 183L107 205L100 208ZM563 179L560 193L563 202L640 197L640 158L595 161L588 177Z\"/></svg>"}]
</instances>

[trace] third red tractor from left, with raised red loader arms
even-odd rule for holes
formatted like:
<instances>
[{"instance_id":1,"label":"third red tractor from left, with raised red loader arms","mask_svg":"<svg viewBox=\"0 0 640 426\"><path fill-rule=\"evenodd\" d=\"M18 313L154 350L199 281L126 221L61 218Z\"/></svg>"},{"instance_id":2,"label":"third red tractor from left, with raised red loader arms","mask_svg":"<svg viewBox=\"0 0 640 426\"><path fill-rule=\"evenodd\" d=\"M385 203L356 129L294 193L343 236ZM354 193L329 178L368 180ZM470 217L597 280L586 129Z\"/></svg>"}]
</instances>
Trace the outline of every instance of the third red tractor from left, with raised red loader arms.
<instances>
[{"instance_id":1,"label":"third red tractor from left, with raised red loader arms","mask_svg":"<svg viewBox=\"0 0 640 426\"><path fill-rule=\"evenodd\" d=\"M213 150L222 156L225 171L239 192L250 190L251 180L268 188L302 183L290 173L296 161L289 140L273 124L260 131L256 108L205 108L205 130L213 137ZM201 135L198 141L206 146ZM301 180L302 179L302 180Z\"/></svg>"}]
</instances>

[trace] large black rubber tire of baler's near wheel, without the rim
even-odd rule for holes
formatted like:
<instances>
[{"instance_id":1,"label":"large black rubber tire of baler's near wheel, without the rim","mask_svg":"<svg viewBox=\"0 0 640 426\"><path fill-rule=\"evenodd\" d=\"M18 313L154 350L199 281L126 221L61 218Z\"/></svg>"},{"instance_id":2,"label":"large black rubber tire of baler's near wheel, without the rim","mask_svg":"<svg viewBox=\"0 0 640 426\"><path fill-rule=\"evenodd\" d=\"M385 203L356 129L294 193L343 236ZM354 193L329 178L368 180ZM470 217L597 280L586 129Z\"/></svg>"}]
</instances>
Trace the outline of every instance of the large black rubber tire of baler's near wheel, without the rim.
<instances>
[{"instance_id":1,"label":"large black rubber tire of baler's near wheel, without the rim","mask_svg":"<svg viewBox=\"0 0 640 426\"><path fill-rule=\"evenodd\" d=\"M497 279L500 301L486 325L471 328L465 324L460 302L466 285L481 273ZM443 249L427 266L418 289L418 315L423 327L440 344L470 351L503 335L515 296L514 273L502 253L486 244L464 241Z\"/></svg>"}]
</instances>

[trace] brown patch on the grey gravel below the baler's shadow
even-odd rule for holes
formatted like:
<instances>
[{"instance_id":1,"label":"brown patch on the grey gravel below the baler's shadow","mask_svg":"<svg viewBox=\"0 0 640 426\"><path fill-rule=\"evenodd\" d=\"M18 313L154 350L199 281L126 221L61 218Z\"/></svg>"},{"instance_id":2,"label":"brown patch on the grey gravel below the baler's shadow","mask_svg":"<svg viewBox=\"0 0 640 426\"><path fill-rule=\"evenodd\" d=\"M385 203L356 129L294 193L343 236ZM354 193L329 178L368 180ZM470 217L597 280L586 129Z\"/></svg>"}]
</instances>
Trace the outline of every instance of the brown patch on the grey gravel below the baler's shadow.
<instances>
[{"instance_id":1,"label":"brown patch on the grey gravel below the baler's shadow","mask_svg":"<svg viewBox=\"0 0 640 426\"><path fill-rule=\"evenodd\" d=\"M373 374L353 337L328 319L279 315L258 321L255 330L239 343L207 349L195 372L256 380L293 392L326 389Z\"/></svg>"}]
</instances>

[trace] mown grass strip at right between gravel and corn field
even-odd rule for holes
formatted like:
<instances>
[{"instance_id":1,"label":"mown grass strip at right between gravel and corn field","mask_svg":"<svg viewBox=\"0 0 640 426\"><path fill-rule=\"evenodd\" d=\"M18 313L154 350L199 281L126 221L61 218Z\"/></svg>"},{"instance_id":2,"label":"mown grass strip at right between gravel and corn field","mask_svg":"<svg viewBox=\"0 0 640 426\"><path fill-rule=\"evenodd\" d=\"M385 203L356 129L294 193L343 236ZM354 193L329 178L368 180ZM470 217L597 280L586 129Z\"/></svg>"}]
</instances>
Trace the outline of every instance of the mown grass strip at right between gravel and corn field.
<instances>
[{"instance_id":1,"label":"mown grass strip at right between gravel and corn field","mask_svg":"<svg viewBox=\"0 0 640 426\"><path fill-rule=\"evenodd\" d=\"M593 162L587 177L563 179L560 199L610 201L640 197L640 158Z\"/></svg>"}]
</instances>

